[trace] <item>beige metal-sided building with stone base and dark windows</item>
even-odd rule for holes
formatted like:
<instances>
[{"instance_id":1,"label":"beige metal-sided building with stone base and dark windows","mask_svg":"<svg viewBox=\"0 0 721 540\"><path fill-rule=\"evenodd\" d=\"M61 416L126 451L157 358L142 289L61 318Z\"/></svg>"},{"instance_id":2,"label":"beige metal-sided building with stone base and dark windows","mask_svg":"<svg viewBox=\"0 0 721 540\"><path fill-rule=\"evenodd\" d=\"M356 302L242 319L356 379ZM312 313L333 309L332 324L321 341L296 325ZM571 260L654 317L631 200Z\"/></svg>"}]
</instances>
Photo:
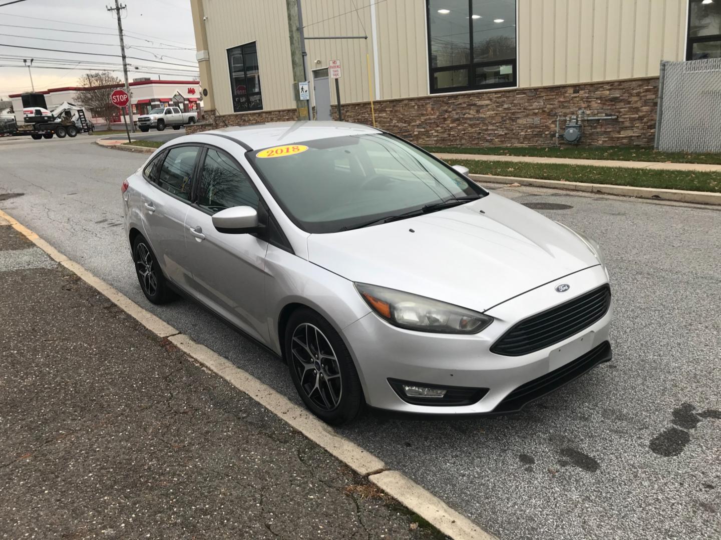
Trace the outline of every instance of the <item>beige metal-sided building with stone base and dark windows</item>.
<instances>
[{"instance_id":1,"label":"beige metal-sided building with stone base and dark windows","mask_svg":"<svg viewBox=\"0 0 721 540\"><path fill-rule=\"evenodd\" d=\"M221 125L292 119L286 0L191 4L206 111ZM446 137L464 143L543 144L559 117L583 109L616 116L597 120L586 143L647 144L660 61L721 56L721 0L301 0L301 8L317 116L336 114L325 70L340 60L345 117L423 140L438 138L443 111L454 117L441 121ZM484 127L490 138L479 136Z\"/></svg>"}]
</instances>

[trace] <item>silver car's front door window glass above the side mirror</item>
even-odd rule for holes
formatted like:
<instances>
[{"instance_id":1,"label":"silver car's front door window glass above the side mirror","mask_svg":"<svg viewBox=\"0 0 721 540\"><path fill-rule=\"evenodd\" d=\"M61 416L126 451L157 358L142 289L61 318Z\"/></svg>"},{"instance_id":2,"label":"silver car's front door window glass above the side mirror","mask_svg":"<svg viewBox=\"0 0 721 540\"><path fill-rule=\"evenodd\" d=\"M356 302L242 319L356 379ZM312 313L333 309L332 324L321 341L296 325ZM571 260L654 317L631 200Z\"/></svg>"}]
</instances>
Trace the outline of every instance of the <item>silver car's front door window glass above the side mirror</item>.
<instances>
[{"instance_id":1,"label":"silver car's front door window glass above the side mirror","mask_svg":"<svg viewBox=\"0 0 721 540\"><path fill-rule=\"evenodd\" d=\"M234 206L257 208L258 200L242 168L228 154L209 148L198 184L198 206L214 214Z\"/></svg>"}]
</instances>

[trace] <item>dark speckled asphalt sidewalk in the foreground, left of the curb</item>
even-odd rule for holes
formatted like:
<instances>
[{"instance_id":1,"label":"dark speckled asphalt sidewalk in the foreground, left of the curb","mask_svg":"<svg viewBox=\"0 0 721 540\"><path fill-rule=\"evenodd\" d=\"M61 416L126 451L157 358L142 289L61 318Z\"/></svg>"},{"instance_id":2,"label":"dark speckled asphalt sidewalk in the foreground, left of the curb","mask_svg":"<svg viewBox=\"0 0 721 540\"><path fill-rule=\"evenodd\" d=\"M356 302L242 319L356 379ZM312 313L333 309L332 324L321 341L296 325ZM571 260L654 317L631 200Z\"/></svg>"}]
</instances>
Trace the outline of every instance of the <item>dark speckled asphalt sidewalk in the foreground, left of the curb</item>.
<instances>
[{"instance_id":1,"label":"dark speckled asphalt sidewalk in the foreground, left of the curb","mask_svg":"<svg viewBox=\"0 0 721 540\"><path fill-rule=\"evenodd\" d=\"M0 321L0 538L439 538L2 220Z\"/></svg>"}]
</instances>

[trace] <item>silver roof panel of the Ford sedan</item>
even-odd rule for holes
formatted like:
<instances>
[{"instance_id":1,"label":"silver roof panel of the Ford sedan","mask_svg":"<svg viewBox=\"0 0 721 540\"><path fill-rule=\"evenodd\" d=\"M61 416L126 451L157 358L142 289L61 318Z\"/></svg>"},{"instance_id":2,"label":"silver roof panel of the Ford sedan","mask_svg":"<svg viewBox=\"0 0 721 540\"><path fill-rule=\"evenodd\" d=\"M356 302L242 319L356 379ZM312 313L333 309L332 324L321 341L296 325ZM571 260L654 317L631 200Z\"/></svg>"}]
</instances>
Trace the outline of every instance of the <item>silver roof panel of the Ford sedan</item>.
<instances>
[{"instance_id":1,"label":"silver roof panel of the Ford sedan","mask_svg":"<svg viewBox=\"0 0 721 540\"><path fill-rule=\"evenodd\" d=\"M301 143L306 140L371 133L381 133L381 130L351 122L302 120L298 122L268 122L267 124L224 127L219 130L205 131L202 135L223 135L243 143L251 150L260 150L271 146Z\"/></svg>"}]
</instances>

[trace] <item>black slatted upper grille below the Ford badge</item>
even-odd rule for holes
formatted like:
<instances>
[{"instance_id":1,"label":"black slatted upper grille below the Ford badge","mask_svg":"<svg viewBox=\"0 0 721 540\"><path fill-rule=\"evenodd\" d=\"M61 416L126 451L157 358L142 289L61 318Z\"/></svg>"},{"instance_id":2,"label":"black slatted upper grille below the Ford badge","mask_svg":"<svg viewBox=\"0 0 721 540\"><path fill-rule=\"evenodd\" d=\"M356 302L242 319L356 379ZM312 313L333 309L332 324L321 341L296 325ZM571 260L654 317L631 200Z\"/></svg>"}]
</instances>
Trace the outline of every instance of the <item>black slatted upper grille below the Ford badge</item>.
<instances>
[{"instance_id":1,"label":"black slatted upper grille below the Ford badge","mask_svg":"<svg viewBox=\"0 0 721 540\"><path fill-rule=\"evenodd\" d=\"M516 323L490 351L504 356L522 356L570 338L603 318L611 306L611 287L603 285L549 310Z\"/></svg>"}]
</instances>

